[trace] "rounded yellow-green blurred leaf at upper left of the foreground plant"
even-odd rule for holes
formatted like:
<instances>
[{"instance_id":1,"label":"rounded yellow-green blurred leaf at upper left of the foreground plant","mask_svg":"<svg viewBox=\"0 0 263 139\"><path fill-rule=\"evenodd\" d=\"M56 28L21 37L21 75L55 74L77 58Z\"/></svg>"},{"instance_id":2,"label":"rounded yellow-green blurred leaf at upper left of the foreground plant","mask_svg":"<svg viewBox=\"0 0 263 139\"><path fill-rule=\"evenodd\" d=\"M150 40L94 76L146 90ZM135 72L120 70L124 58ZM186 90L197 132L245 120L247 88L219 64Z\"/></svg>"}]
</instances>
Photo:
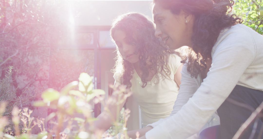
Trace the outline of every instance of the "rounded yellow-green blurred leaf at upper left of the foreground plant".
<instances>
[{"instance_id":1,"label":"rounded yellow-green blurred leaf at upper left of the foreground plant","mask_svg":"<svg viewBox=\"0 0 263 139\"><path fill-rule=\"evenodd\" d=\"M54 90L52 88L47 89L45 92L42 93L41 97L43 98L43 101L45 103L49 101L58 100L60 96L60 93L57 90Z\"/></svg>"}]
</instances>

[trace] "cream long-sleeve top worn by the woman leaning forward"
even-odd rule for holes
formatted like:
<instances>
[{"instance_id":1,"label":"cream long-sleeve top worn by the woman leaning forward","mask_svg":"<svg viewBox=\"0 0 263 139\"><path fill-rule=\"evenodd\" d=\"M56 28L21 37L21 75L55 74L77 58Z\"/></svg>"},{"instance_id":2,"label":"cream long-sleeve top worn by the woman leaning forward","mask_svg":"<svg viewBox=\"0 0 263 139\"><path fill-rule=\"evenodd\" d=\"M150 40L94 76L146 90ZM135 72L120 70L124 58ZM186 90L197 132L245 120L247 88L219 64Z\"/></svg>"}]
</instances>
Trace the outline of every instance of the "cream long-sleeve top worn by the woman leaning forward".
<instances>
[{"instance_id":1,"label":"cream long-sleeve top worn by the woman leaning forward","mask_svg":"<svg viewBox=\"0 0 263 139\"><path fill-rule=\"evenodd\" d=\"M207 77L195 92L186 66L173 115L146 133L147 139L185 139L197 133L230 95L236 85L263 91L263 36L236 24L220 32L212 49ZM263 92L262 92L263 93Z\"/></svg>"}]
</instances>

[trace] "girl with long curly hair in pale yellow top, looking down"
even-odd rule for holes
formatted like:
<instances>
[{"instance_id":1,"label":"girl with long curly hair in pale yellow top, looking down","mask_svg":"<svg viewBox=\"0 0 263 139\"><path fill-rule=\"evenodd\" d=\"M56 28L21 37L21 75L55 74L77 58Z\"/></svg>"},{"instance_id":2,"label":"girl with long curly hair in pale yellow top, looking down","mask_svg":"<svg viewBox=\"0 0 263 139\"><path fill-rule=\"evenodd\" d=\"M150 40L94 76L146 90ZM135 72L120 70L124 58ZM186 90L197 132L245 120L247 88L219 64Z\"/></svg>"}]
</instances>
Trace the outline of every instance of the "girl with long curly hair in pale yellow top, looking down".
<instances>
[{"instance_id":1,"label":"girl with long curly hair in pale yellow top, looking down","mask_svg":"<svg viewBox=\"0 0 263 139\"><path fill-rule=\"evenodd\" d=\"M168 117L180 85L182 64L179 53L156 38L153 23L138 13L117 17L110 33L117 45L115 84L124 84L133 92L141 109L142 125L145 127ZM124 102L119 107L123 105ZM116 119L119 113L117 104L109 103L107 107ZM96 128L105 131L112 125L109 111L103 111L98 116ZM130 133L135 137L134 132ZM140 133L145 134L144 131Z\"/></svg>"}]
</instances>

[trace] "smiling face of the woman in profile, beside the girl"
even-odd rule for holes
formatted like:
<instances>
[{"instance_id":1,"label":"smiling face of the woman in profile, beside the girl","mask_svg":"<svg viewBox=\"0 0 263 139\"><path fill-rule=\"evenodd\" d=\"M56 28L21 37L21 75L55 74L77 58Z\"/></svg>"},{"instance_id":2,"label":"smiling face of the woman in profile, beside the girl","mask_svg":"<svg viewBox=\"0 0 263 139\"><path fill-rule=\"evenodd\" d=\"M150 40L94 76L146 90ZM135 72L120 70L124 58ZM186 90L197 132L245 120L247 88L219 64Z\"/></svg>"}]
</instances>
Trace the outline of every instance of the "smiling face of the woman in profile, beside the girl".
<instances>
[{"instance_id":1,"label":"smiling face of the woman in profile, beside the girl","mask_svg":"<svg viewBox=\"0 0 263 139\"><path fill-rule=\"evenodd\" d=\"M160 37L170 49L191 47L192 26L189 26L191 18L183 11L173 14L156 2L153 6L153 18L156 24L155 36Z\"/></svg>"}]
</instances>

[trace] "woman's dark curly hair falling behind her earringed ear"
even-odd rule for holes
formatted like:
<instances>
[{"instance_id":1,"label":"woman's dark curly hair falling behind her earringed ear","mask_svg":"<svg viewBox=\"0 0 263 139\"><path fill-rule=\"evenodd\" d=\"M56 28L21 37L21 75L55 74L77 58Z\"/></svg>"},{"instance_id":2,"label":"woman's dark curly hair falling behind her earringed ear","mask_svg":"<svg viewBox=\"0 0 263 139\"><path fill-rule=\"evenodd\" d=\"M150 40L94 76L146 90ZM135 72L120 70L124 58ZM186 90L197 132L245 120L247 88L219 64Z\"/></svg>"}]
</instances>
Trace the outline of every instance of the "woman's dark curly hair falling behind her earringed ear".
<instances>
[{"instance_id":1,"label":"woman's dark curly hair falling behind her earringed ear","mask_svg":"<svg viewBox=\"0 0 263 139\"><path fill-rule=\"evenodd\" d=\"M186 63L188 73L195 78L205 71L206 61L211 59L220 31L242 22L235 14L230 14L234 4L232 0L154 0L153 3L156 2L173 14L183 10L194 15L193 46L181 62Z\"/></svg>"}]
</instances>

